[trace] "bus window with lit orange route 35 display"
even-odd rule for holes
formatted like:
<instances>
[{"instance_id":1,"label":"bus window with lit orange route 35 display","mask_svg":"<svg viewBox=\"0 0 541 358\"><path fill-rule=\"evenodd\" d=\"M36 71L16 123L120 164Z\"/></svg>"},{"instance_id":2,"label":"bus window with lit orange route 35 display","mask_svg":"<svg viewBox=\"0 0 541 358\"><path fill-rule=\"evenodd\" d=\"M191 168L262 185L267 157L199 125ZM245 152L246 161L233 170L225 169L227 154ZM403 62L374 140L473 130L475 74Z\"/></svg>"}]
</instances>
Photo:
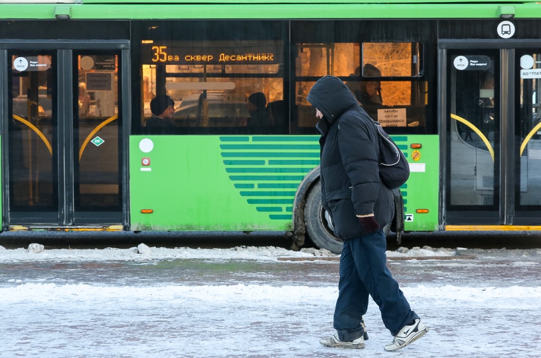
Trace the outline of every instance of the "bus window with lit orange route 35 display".
<instances>
[{"instance_id":1,"label":"bus window with lit orange route 35 display","mask_svg":"<svg viewBox=\"0 0 541 358\"><path fill-rule=\"evenodd\" d=\"M275 40L143 40L141 126L160 115L150 101L165 92L178 134L286 133L283 106L267 108L283 103L282 48Z\"/></svg>"}]
</instances>

